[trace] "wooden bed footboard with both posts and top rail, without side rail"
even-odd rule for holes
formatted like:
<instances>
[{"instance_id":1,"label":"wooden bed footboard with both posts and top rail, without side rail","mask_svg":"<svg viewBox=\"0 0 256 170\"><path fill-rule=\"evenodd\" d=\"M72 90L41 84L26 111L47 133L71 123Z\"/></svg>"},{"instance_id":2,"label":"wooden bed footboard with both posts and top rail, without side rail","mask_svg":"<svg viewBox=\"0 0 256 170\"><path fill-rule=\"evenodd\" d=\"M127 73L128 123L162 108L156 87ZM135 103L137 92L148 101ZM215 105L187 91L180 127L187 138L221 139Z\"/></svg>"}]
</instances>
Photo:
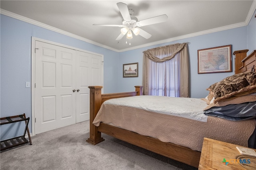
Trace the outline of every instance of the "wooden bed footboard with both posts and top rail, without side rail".
<instances>
[{"instance_id":1,"label":"wooden bed footboard with both posts and top rail, without side rail","mask_svg":"<svg viewBox=\"0 0 256 170\"><path fill-rule=\"evenodd\" d=\"M109 99L123 98L129 96L140 96L142 95L143 86L134 86L135 92L123 92L123 93L112 93L112 94L101 94L102 86L89 86L90 88L90 138L86 142L96 145L104 141L101 137L101 133L98 131L98 127L92 124L98 111L100 110L101 104Z\"/></svg>"}]
</instances>

